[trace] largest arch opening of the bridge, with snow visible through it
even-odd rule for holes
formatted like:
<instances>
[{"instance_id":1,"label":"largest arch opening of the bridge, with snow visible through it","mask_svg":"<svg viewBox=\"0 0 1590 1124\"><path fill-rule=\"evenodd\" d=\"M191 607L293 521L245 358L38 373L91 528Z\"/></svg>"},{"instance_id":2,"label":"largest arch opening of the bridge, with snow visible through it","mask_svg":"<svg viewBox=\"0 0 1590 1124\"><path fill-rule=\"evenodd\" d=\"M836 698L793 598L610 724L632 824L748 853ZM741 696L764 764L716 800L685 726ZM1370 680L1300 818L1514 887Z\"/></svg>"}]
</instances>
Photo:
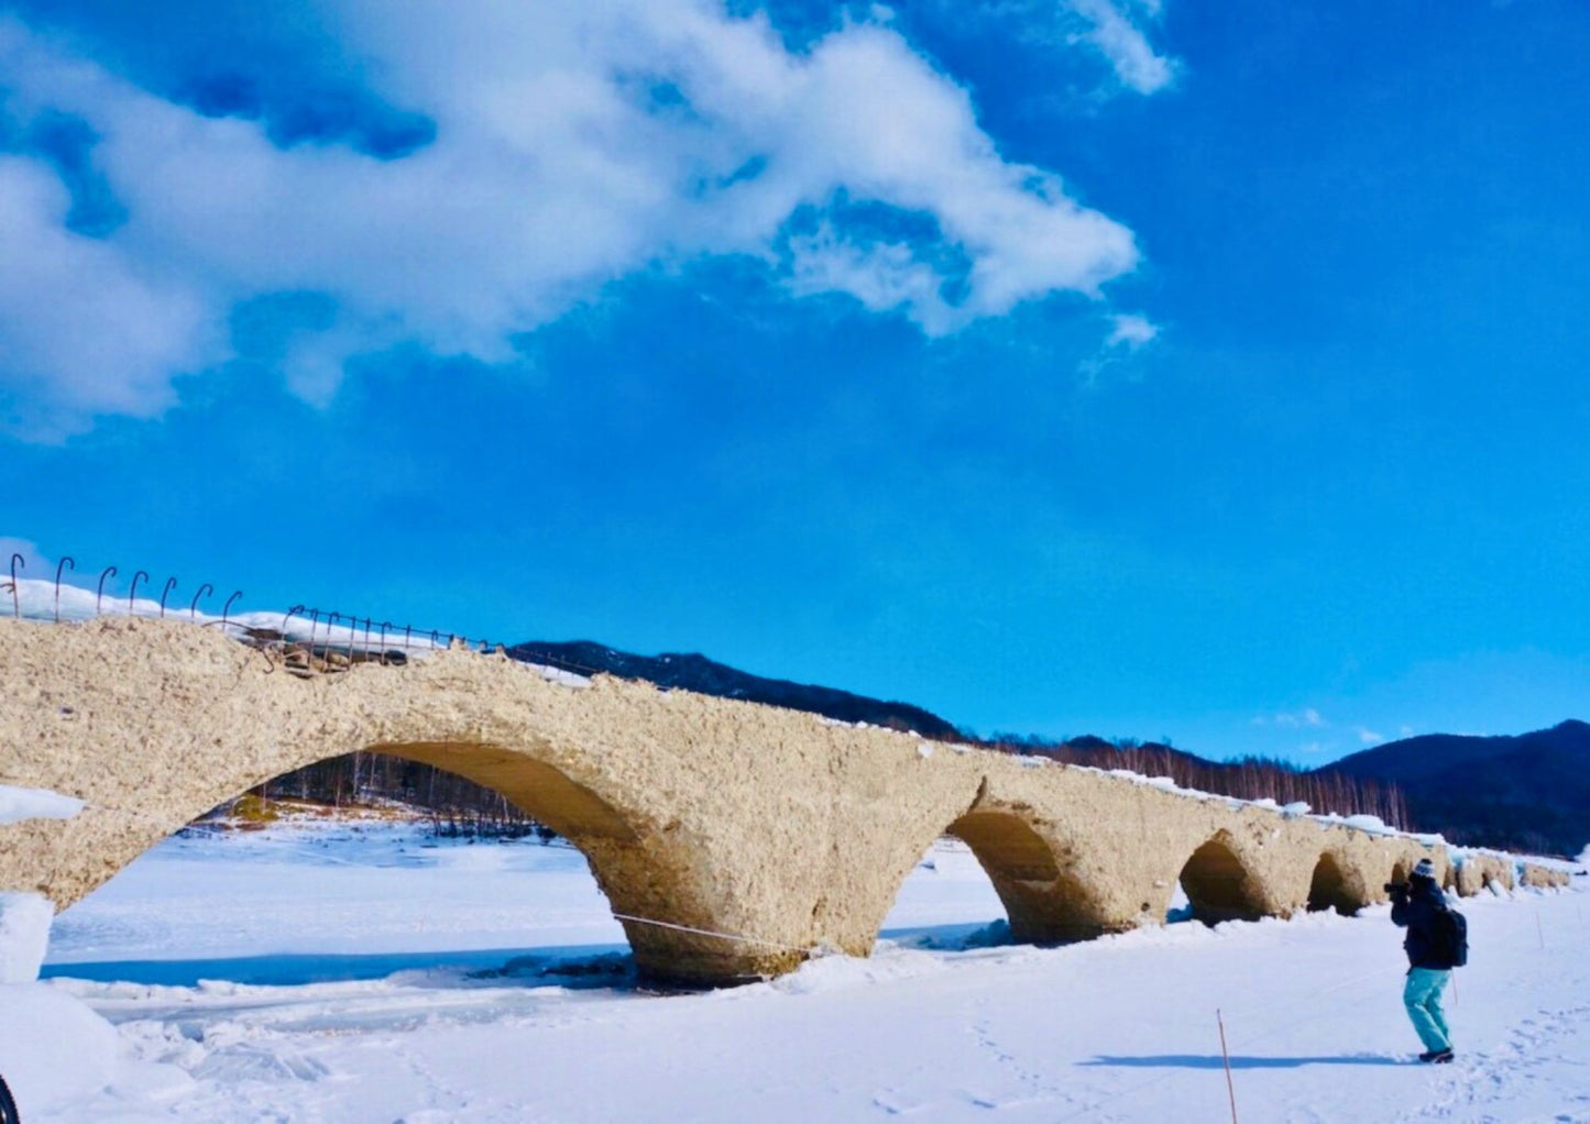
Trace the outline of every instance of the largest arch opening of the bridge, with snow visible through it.
<instances>
[{"instance_id":1,"label":"largest arch opening of the bridge, with snow visible through it","mask_svg":"<svg viewBox=\"0 0 1590 1124\"><path fill-rule=\"evenodd\" d=\"M434 762L440 752L382 746L348 758L370 776ZM420 809L399 812L367 798L342 800L340 812L328 806L326 814L312 814L320 800L283 800L302 787L293 777L345 758L312 762L308 769L250 784L245 792L264 787L278 800L243 800L245 817L226 828L200 822L178 838L153 839L110 886L57 917L49 973L172 984L194 983L183 978L189 973L291 984L458 965L560 984L628 981L638 965L614 917L625 892L620 882L615 893L614 884L626 871L615 879L620 863L607 862L607 851L633 835L628 824L588 789L539 763L515 774L512 795L482 784L502 766L499 758L501 750L491 749L456 754L447 768L434 766L432 779L463 789L475 809L491 801L520 809L558 836L550 846L537 846L528 830L514 841L467 830L466 838L437 838ZM281 816L289 808L302 814ZM439 820L472 828L471 811L456 804ZM102 952L86 957L107 924L119 938L99 940Z\"/></svg>"}]
</instances>

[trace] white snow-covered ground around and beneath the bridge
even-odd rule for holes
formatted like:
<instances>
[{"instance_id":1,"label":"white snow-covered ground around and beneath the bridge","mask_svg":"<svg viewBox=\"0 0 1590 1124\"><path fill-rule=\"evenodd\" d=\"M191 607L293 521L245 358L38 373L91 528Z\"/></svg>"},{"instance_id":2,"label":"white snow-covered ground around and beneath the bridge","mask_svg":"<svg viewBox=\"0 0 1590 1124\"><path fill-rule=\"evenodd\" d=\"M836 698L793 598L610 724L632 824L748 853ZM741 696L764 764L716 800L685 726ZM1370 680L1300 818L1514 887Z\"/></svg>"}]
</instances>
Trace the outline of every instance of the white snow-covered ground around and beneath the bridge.
<instances>
[{"instance_id":1,"label":"white snow-covered ground around and beneath the bridge","mask_svg":"<svg viewBox=\"0 0 1590 1124\"><path fill-rule=\"evenodd\" d=\"M0 987L0 1072L45 1075L27 1124L1220 1121L1218 1010L1243 1121L1590 1121L1576 882L1464 903L1458 1060L1423 1067L1383 906L991 944L999 900L943 843L873 959L655 995L566 847L176 838L56 921L52 979Z\"/></svg>"}]
</instances>

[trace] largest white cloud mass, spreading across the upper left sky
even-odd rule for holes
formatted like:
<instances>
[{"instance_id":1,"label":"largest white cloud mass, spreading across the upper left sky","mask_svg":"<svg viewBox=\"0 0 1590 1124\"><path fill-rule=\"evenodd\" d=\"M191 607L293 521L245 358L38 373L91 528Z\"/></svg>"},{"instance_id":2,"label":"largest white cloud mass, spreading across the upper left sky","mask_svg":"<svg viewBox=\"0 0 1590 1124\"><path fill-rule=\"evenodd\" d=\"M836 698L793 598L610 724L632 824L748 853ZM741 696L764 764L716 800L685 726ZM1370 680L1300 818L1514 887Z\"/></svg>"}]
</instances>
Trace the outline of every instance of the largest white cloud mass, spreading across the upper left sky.
<instances>
[{"instance_id":1,"label":"largest white cloud mass, spreading across the upper left sky","mask_svg":"<svg viewBox=\"0 0 1590 1124\"><path fill-rule=\"evenodd\" d=\"M1137 262L1130 231L1005 161L967 92L882 25L797 54L714 0L324 0L321 16L378 94L436 121L432 145L390 162L283 151L258 122L199 116L0 19L11 111L84 118L129 213L105 240L70 234L59 184L8 161L0 388L35 426L159 412L172 374L224 358L231 307L266 293L337 302L286 359L323 401L358 351L418 340L501 361L510 334L603 283L703 254L758 258L793 294L846 293L930 334L1056 291L1097 297ZM937 235L924 251L847 229L841 197ZM808 211L817 234L787 238Z\"/></svg>"}]
</instances>

